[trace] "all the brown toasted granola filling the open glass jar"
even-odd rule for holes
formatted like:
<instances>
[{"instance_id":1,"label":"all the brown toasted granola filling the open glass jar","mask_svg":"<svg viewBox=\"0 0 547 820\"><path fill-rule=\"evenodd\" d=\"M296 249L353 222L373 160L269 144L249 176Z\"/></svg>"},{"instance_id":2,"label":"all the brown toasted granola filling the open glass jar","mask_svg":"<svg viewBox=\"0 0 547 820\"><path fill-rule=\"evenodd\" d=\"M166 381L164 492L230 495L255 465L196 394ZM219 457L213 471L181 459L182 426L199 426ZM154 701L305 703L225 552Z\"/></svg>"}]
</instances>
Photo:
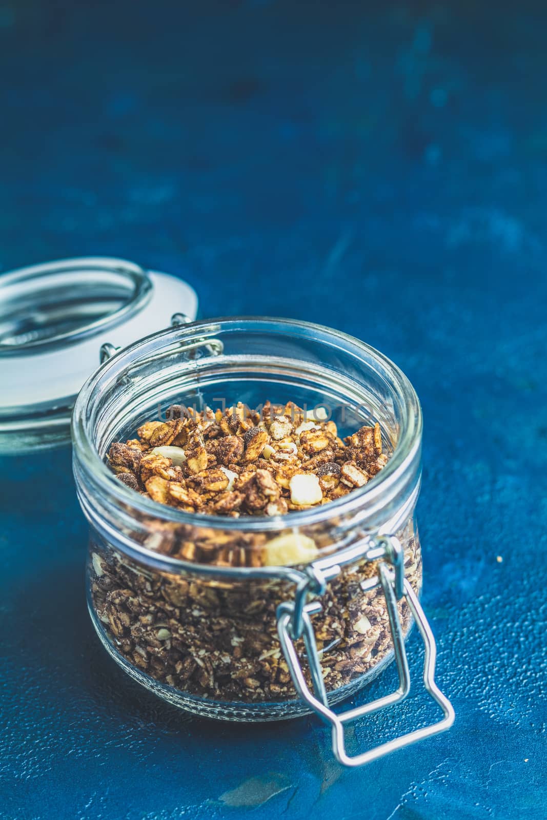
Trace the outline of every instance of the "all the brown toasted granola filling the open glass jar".
<instances>
[{"instance_id":1,"label":"all the brown toasted granola filling the open glass jar","mask_svg":"<svg viewBox=\"0 0 547 820\"><path fill-rule=\"evenodd\" d=\"M267 403L261 415L238 405L186 416L171 408L169 416L146 422L125 444L112 444L108 462L125 485L187 512L285 517L277 535L245 532L244 522L236 532L198 522L149 522L148 549L212 564L219 575L222 567L302 566L335 549L329 531L291 530L290 512L352 492L387 462L379 425L342 440L333 421L321 413L306 417L293 403ZM398 535L405 574L418 592L422 560L412 518ZM312 616L327 691L371 672L392 649L381 589L362 591L376 572L370 562L344 567ZM296 697L276 631L278 605L294 597L288 581L214 580L191 569L185 575L153 572L93 543L89 584L99 630L141 675L219 702ZM399 614L406 633L406 603ZM296 649L308 675L301 640Z\"/></svg>"}]
</instances>

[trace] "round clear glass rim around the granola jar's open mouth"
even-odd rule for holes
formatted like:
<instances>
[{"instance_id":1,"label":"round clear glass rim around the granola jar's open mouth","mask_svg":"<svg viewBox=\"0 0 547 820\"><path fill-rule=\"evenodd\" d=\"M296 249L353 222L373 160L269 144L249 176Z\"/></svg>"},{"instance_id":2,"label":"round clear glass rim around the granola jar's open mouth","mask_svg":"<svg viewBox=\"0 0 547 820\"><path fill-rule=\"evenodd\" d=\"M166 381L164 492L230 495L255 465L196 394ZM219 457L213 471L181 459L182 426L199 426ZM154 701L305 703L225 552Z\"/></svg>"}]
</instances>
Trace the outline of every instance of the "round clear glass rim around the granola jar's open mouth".
<instances>
[{"instance_id":1,"label":"round clear glass rim around the granola jar's open mouth","mask_svg":"<svg viewBox=\"0 0 547 820\"><path fill-rule=\"evenodd\" d=\"M147 497L136 493L121 481L116 479L114 473L103 461L98 449L93 441L93 430L89 425L89 402L92 399L93 389L98 385L98 381L104 380L112 383L112 380L119 379L126 366L134 364L135 358L146 358L154 352L157 341L166 339L171 342L181 342L193 337L198 337L206 332L219 332L220 330L273 330L277 326L285 327L287 330L299 331L302 335L315 334L330 342L335 341L344 347L346 351L354 354L366 354L367 358L374 360L378 366L382 367L390 375L390 386L393 387L402 399L406 409L406 424L401 427L399 439L394 447L385 467L374 476L366 485L351 493L344 495L340 499L330 501L328 504L321 504L318 507L308 508L301 512L289 512L285 516L248 516L244 518L232 518L227 516L212 516L199 512L185 512L179 508L153 501ZM313 338L313 336L312 336ZM422 408L413 385L404 375L403 371L380 353L371 345L360 341L354 336L343 333L340 330L318 325L308 321L300 321L283 317L220 317L211 320L194 321L184 326L167 328L153 335L149 335L138 342L131 344L120 352L116 353L107 362L95 371L85 382L80 394L75 402L71 423L72 440L74 444L74 456L79 460L79 466L84 468L93 480L96 489L101 491L105 497L115 499L117 503L130 506L143 516L162 519L166 522L174 522L180 525L208 527L218 531L248 531L271 533L281 529L296 529L301 526L315 525L328 521L337 515L347 515L358 510L365 505L367 508L381 508L381 497L385 492L397 485L406 474L417 457L422 441ZM148 553L147 549L143 549ZM185 565L185 561L171 558L171 561Z\"/></svg>"}]
</instances>

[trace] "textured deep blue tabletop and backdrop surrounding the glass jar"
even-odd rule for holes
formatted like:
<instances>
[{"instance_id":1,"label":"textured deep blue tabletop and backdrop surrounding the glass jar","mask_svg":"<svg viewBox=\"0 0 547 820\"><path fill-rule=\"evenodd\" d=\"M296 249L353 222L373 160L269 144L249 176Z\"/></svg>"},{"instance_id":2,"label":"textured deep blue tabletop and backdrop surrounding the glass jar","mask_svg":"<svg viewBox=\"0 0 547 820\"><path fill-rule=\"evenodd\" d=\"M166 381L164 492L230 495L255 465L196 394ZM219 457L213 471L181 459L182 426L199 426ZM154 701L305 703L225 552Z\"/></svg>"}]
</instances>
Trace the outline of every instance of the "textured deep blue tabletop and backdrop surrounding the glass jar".
<instances>
[{"instance_id":1,"label":"textured deep blue tabletop and backdrop surrounding the glass jar","mask_svg":"<svg viewBox=\"0 0 547 820\"><path fill-rule=\"evenodd\" d=\"M2 270L134 258L203 316L337 326L413 380L457 711L355 771L313 718L187 719L92 633L70 453L3 460L2 820L545 818L546 16L475 5L0 5Z\"/></svg>"}]
</instances>

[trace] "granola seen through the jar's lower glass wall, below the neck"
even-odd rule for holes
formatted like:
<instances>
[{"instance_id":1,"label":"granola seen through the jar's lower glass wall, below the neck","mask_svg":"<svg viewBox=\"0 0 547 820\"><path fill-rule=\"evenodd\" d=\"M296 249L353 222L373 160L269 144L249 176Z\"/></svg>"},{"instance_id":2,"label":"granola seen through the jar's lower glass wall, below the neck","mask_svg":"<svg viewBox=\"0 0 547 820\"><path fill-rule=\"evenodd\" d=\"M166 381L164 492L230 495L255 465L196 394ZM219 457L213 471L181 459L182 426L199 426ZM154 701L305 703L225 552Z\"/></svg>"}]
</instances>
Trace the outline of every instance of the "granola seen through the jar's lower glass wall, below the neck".
<instances>
[{"instance_id":1,"label":"granola seen through the jar's lower glass wall, below the neck","mask_svg":"<svg viewBox=\"0 0 547 820\"><path fill-rule=\"evenodd\" d=\"M422 557L412 522L398 535L405 576L418 592ZM276 630L278 605L294 595L289 585L279 579L230 584L166 576L99 544L92 549L93 609L116 652L139 672L186 695L218 701L296 697ZM371 672L393 648L381 589L361 589L375 572L375 563L344 567L321 597L321 613L312 615L327 691ZM399 603L399 615L406 635L406 602ZM297 649L303 658L302 640ZM312 686L307 663L303 667Z\"/></svg>"}]
</instances>

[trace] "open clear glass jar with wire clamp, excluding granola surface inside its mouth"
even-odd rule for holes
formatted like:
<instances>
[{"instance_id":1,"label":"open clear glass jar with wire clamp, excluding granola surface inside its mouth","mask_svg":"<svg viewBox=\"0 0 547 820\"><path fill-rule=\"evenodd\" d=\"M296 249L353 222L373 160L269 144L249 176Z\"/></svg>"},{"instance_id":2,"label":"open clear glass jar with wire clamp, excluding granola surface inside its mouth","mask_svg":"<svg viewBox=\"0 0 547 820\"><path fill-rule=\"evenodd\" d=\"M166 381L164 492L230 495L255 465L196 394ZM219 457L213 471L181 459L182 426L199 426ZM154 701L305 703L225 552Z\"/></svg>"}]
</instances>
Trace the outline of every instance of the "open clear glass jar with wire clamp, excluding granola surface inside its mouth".
<instances>
[{"instance_id":1,"label":"open clear glass jar with wire clamp, excluding granola surface inside its mouth","mask_svg":"<svg viewBox=\"0 0 547 820\"><path fill-rule=\"evenodd\" d=\"M340 436L377 421L385 467L321 506L239 518L157 503L107 467L113 441L133 438L173 404L259 409L267 399L293 401L312 417L326 408ZM417 599L422 416L412 385L381 353L298 321L171 328L116 353L90 377L72 435L77 492L91 525L89 612L107 651L135 680L207 717L266 721L315 711L348 765L449 727L454 713L433 680L435 644ZM303 544L300 553L294 544ZM426 642L424 682L444 718L350 758L344 722L408 693L412 614ZM393 658L398 690L343 716L332 711Z\"/></svg>"}]
</instances>

